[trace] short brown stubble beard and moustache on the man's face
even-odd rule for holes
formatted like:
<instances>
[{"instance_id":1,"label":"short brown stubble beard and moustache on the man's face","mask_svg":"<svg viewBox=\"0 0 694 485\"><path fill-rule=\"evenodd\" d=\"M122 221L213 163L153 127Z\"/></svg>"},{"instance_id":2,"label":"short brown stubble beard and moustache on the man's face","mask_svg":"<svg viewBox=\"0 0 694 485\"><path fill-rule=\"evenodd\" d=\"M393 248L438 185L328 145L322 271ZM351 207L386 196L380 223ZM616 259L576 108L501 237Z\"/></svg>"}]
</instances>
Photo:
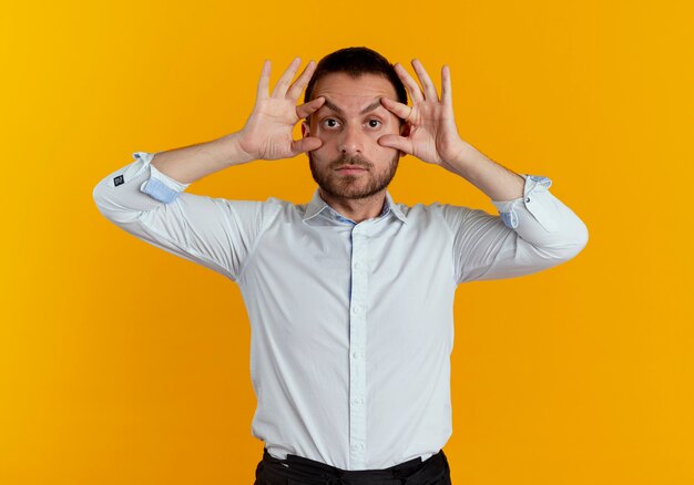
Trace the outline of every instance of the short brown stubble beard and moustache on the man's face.
<instances>
[{"instance_id":1,"label":"short brown stubble beard and moustache on the man's face","mask_svg":"<svg viewBox=\"0 0 694 485\"><path fill-rule=\"evenodd\" d=\"M335 161L330 162L323 169L323 172L320 172L316 167L313 153L308 152L307 155L310 174L313 175L314 180L316 180L316 184L318 184L323 192L329 196L343 199L367 198L388 187L390 180L395 177L400 159L399 152L396 151L395 156L390 161L390 165L386 172L374 174L374 164L369 161L343 154ZM335 169L341 165L357 165L367 168L368 172L367 174L360 175L338 175ZM366 185L357 185L357 178L364 177L365 175L370 176L368 183Z\"/></svg>"}]
</instances>

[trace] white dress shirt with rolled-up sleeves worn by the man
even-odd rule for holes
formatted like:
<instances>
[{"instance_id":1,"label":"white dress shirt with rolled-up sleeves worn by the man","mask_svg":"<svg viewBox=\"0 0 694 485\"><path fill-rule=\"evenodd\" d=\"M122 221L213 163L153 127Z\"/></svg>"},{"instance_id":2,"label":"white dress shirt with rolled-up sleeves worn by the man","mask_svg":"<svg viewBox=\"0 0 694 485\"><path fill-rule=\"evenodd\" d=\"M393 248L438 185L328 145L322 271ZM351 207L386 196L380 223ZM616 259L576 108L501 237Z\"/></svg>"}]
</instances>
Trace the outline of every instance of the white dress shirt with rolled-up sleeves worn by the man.
<instances>
[{"instance_id":1,"label":"white dress shirt with rolled-up sleeves worn by the man","mask_svg":"<svg viewBox=\"0 0 694 485\"><path fill-rule=\"evenodd\" d=\"M523 174L500 216L396 204L355 224L318 189L308 204L185 193L153 154L96 184L99 210L133 236L235 281L251 319L252 433L343 469L437 453L451 435L453 297L462 282L560 265L588 242L583 221Z\"/></svg>"}]
</instances>

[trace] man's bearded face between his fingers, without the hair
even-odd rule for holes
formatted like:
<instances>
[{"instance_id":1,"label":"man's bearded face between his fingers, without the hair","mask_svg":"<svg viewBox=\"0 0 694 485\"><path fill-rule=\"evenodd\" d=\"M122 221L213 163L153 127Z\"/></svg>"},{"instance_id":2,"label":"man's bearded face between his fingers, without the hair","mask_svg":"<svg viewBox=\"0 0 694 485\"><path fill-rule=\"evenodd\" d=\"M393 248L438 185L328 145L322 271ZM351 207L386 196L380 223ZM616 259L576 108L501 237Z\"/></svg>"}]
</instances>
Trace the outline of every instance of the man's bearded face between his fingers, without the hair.
<instances>
[{"instance_id":1,"label":"man's bearded face between his fingers, without the hair","mask_svg":"<svg viewBox=\"0 0 694 485\"><path fill-rule=\"evenodd\" d=\"M302 124L303 136L320 138L320 148L308 152L310 173L333 197L356 199L386 188L404 154L380 146L378 138L400 134L398 117L379 102L380 96L397 101L396 92L385 78L364 74L353 79L331 73L314 86L313 99L325 97L320 110ZM356 165L356 169L341 168ZM340 169L341 168L341 169Z\"/></svg>"}]
</instances>

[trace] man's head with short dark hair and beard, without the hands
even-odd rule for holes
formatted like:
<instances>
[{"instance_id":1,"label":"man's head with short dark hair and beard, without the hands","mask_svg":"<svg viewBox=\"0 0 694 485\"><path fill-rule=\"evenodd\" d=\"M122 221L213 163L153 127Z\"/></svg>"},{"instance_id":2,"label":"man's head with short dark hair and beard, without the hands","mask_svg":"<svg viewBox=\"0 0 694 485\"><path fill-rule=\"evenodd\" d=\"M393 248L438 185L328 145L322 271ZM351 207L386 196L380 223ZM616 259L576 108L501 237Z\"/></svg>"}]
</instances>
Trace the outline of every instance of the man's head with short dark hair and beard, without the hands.
<instances>
[{"instance_id":1,"label":"man's head with short dark hair and beard, without the hands","mask_svg":"<svg viewBox=\"0 0 694 485\"><path fill-rule=\"evenodd\" d=\"M304 136L323 145L308 152L314 179L337 198L365 198L384 190L405 155L380 146L387 134L407 135L402 121L379 99L407 104L407 91L392 64L367 48L343 49L323 58L306 86L304 101L325 97L324 105L302 123ZM356 165L360 172L339 171Z\"/></svg>"}]
</instances>

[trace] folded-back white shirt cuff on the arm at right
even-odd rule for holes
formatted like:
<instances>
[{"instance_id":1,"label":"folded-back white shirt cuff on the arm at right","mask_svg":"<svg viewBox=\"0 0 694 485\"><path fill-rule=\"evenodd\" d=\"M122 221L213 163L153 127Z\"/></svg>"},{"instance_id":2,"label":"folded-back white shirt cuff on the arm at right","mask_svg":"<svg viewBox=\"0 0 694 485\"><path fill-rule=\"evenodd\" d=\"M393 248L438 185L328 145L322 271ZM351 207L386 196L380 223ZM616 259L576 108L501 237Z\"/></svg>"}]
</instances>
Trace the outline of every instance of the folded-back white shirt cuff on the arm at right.
<instances>
[{"instance_id":1,"label":"folded-back white shirt cuff on the arm at right","mask_svg":"<svg viewBox=\"0 0 694 485\"><path fill-rule=\"evenodd\" d=\"M557 221L552 217L551 208L547 206L547 196L552 180L542 175L521 174L525 179L523 185L523 196L512 200L492 200L491 203L499 210L503 224L511 229L518 227L518 205L523 204L540 225L552 233L557 230Z\"/></svg>"}]
</instances>

